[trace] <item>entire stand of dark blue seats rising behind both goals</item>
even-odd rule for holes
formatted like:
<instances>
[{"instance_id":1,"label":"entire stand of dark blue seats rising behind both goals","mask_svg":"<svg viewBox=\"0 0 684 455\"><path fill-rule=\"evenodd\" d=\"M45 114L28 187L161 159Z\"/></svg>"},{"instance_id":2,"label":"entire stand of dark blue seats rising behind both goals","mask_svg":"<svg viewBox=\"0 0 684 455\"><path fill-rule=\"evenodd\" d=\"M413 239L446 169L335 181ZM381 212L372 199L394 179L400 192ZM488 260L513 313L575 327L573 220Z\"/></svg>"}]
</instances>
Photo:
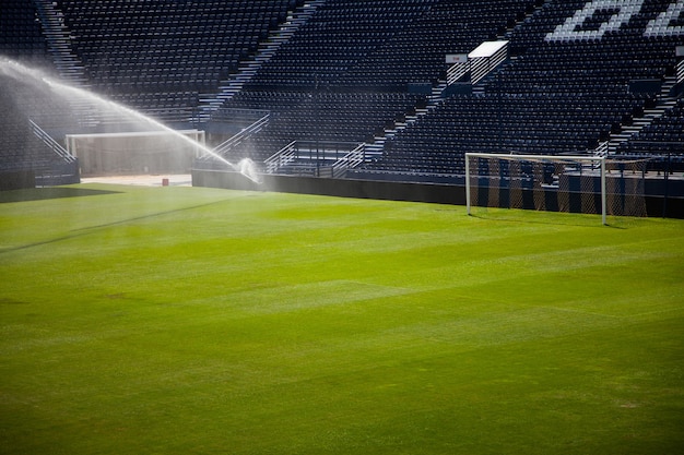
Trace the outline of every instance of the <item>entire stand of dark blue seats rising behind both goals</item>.
<instances>
[{"instance_id":1,"label":"entire stand of dark blue seats rising behind both goals","mask_svg":"<svg viewBox=\"0 0 684 455\"><path fill-rule=\"evenodd\" d=\"M465 152L684 155L684 7L674 0L5 3L4 56L68 73L52 22L85 86L164 121L203 128L236 110L270 112L228 159L262 164L292 141L365 143L347 177L444 181L462 176ZM445 56L491 40L507 41L509 58L476 83L465 73L449 85ZM252 71L240 74L247 60ZM238 77L239 91L219 96ZM10 152L26 147L26 128L2 129L24 137L2 146L2 166L37 159Z\"/></svg>"}]
</instances>

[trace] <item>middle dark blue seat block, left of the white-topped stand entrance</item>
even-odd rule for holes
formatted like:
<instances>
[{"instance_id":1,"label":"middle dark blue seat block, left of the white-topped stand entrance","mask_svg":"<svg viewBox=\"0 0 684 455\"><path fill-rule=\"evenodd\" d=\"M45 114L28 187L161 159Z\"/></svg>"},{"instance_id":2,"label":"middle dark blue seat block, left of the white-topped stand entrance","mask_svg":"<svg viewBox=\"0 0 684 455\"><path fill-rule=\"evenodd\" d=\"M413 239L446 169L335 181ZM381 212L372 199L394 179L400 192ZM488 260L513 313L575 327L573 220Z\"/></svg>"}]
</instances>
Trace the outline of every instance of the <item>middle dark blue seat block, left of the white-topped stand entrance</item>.
<instances>
[{"instance_id":1,"label":"middle dark blue seat block, left of the white-topped stand entrance","mask_svg":"<svg viewBox=\"0 0 684 455\"><path fill-rule=\"evenodd\" d=\"M291 111L279 110L249 144L247 149L259 151L251 156L260 160L295 139L373 141L391 130L394 120L425 105L425 96L406 95L408 85L437 82L446 70L445 53L472 50L533 5L486 2L474 10L465 1L327 1L227 106L247 101L266 108L255 101L263 98L264 89L299 92L302 103ZM441 46L433 46L434 40ZM384 116L374 116L368 109L381 99L396 101L387 104ZM326 121L321 112L334 121ZM344 131L343 125L364 118L365 129ZM244 154L235 153L231 158Z\"/></svg>"}]
</instances>

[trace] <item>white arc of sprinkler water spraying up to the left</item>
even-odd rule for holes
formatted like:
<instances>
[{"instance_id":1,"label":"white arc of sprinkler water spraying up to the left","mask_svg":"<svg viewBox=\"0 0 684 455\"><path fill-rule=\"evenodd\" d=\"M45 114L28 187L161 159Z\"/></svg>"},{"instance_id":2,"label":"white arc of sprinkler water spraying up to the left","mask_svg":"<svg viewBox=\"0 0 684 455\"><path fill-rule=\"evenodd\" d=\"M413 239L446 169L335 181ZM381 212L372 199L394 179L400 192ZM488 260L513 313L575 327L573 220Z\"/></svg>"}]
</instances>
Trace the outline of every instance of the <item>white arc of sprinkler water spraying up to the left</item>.
<instances>
[{"instance_id":1,"label":"white arc of sprinkler water spraying up to the left","mask_svg":"<svg viewBox=\"0 0 684 455\"><path fill-rule=\"evenodd\" d=\"M31 81L45 84L47 87L51 88L55 93L59 94L62 97L79 97L82 99L86 99L93 103L94 105L102 107L103 109L109 109L110 111L127 116L129 118L132 118L139 121L143 121L150 124L151 127L165 131L174 135L178 140L185 141L188 144L192 145L193 147L197 147L201 149L202 152L211 155L219 161L240 172L241 175L244 175L251 181L256 183L261 183L261 176L257 171L255 163L249 158L244 158L237 164L234 164L225 159L223 156L215 153L211 148L207 147L204 144L193 140L192 137L181 134L180 132L174 130L173 128L167 127L166 124L162 123L158 120L153 119L150 116L139 112L135 109L132 109L128 106L123 106L119 103L113 101L111 99L108 99L102 95L60 82L45 74L40 70L26 67L17 61L14 61L8 58L0 58L0 69L2 69L3 74L11 76L15 80L26 82L26 77L28 77Z\"/></svg>"}]
</instances>

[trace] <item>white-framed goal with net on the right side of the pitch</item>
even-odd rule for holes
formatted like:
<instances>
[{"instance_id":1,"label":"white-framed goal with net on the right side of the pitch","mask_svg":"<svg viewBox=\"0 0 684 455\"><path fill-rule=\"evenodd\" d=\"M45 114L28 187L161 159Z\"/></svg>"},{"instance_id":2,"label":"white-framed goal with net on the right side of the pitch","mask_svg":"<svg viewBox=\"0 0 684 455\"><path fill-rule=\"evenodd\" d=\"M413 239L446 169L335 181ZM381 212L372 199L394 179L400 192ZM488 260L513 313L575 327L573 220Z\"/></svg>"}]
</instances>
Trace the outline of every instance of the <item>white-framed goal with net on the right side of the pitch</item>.
<instances>
[{"instance_id":1,"label":"white-framed goal with net on the right side of the pitch","mask_svg":"<svg viewBox=\"0 0 684 455\"><path fill-rule=\"evenodd\" d=\"M600 156L465 154L471 207L646 216L646 160Z\"/></svg>"}]
</instances>

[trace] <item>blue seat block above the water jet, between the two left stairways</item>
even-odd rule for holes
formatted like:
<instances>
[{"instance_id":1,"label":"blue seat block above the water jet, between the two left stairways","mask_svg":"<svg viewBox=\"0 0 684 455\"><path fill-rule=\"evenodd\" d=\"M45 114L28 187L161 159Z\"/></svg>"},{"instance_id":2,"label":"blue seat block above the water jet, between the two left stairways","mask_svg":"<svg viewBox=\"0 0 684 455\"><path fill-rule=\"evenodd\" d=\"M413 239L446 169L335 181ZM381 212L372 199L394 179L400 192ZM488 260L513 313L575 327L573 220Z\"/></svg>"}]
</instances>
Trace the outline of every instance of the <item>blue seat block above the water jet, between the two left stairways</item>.
<instances>
[{"instance_id":1,"label":"blue seat block above the water jet, between the two left stairways","mask_svg":"<svg viewBox=\"0 0 684 455\"><path fill-rule=\"evenodd\" d=\"M190 117L295 7L291 0L58 5L93 89L166 120Z\"/></svg>"}]
</instances>

